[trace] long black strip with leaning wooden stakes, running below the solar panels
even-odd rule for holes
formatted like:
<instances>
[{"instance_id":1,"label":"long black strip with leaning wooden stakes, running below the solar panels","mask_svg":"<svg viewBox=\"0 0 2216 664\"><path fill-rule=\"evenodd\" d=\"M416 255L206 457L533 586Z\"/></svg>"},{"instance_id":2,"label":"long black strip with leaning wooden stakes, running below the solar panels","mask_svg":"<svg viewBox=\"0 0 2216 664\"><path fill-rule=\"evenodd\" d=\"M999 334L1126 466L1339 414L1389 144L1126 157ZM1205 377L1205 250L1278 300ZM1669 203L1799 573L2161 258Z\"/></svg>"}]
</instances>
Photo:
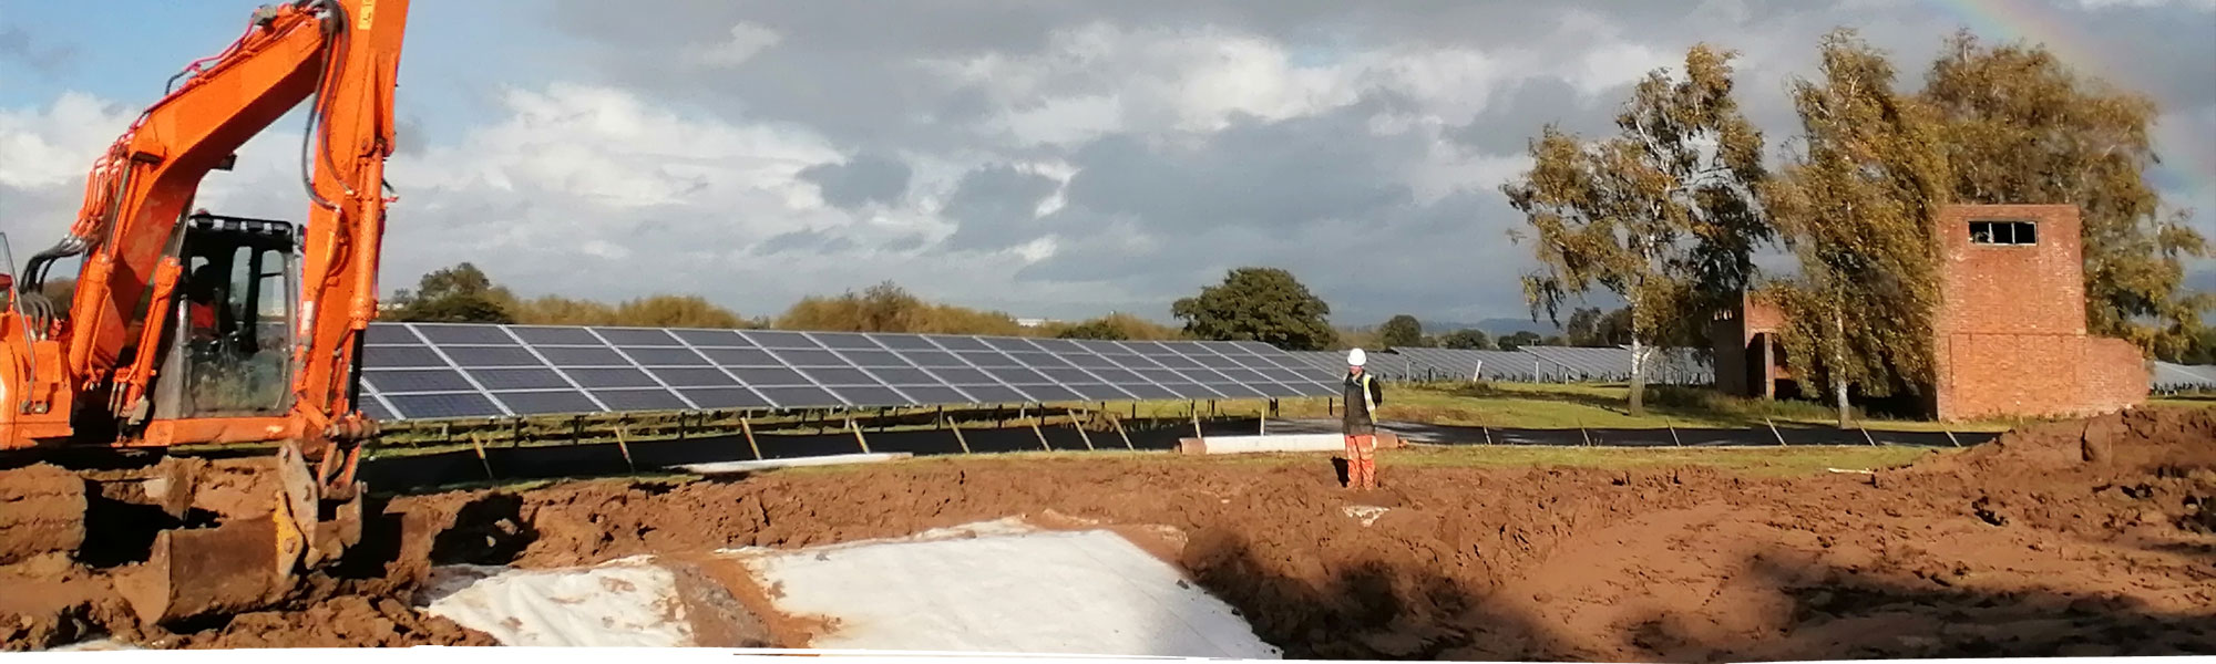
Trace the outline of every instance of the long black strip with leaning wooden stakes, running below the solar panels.
<instances>
[{"instance_id":1,"label":"long black strip with leaning wooden stakes, running below the solar panels","mask_svg":"<svg viewBox=\"0 0 2216 664\"><path fill-rule=\"evenodd\" d=\"M1775 447L1784 445L1910 445L1910 447L1968 447L1992 440L1997 434L1946 432L1864 432L1833 427L1751 427L1751 429L1491 429L1491 427L1447 427L1385 423L1403 440L1416 445L1560 445L1560 447ZM1268 434L1334 434L1336 421L1270 421L1228 418L1203 423L1208 436ZM1192 425L1161 425L1152 429L1126 429L1128 449L1168 452L1179 438L1192 436ZM1039 438L1046 438L1044 443ZM964 429L957 440L953 432L864 432L866 452L906 452L915 456L1006 454L1006 452L1086 452L1126 449L1124 436L1115 432L1079 434L1077 429L1006 427ZM745 436L707 436L687 440L643 440L625 449L614 443L594 445L532 445L532 447L485 447L479 460L474 449L452 449L434 454L375 456L361 463L359 478L379 494L410 494L437 487L470 485L485 480L545 480L545 478L594 478L623 474L667 471L674 465L756 460L756 458L807 458L864 452L851 432L824 434L762 434L753 447ZM490 467L490 476L488 476Z\"/></svg>"}]
</instances>

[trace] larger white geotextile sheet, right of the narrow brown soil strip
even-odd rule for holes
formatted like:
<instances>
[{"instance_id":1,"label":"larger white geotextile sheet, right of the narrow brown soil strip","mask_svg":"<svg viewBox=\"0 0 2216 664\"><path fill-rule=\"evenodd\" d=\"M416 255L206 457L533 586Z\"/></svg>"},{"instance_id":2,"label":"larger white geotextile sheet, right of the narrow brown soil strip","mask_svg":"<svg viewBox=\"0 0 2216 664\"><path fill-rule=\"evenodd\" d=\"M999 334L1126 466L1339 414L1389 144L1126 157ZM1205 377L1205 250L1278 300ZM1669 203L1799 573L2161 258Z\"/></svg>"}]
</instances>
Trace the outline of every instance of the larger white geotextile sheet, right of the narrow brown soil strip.
<instances>
[{"instance_id":1,"label":"larger white geotextile sheet, right of the narrow brown soil strip","mask_svg":"<svg viewBox=\"0 0 2216 664\"><path fill-rule=\"evenodd\" d=\"M902 540L742 549L818 649L1279 660L1232 606L1110 531L1002 520Z\"/></svg>"}]
</instances>

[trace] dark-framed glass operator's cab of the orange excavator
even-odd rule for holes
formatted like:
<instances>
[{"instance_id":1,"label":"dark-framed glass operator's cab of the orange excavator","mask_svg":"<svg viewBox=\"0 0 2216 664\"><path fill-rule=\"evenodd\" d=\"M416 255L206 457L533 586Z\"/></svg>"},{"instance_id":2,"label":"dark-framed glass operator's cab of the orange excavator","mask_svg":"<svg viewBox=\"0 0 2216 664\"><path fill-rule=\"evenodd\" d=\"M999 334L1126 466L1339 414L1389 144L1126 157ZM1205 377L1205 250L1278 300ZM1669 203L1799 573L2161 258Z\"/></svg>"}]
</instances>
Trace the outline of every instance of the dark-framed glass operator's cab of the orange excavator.
<instances>
[{"instance_id":1,"label":"dark-framed glass operator's cab of the orange excavator","mask_svg":"<svg viewBox=\"0 0 2216 664\"><path fill-rule=\"evenodd\" d=\"M157 418L270 416L290 409L295 226L186 217Z\"/></svg>"}]
</instances>

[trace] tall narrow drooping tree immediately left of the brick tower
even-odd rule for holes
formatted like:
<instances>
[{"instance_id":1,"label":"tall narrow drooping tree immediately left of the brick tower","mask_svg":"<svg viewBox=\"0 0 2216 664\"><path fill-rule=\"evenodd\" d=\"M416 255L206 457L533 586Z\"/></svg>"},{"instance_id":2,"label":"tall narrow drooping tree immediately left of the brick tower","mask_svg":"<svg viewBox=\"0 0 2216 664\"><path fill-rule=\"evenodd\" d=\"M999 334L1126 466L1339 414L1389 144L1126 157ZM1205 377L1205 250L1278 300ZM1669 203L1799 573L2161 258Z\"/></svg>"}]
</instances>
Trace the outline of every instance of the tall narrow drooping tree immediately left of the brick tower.
<instances>
[{"instance_id":1,"label":"tall narrow drooping tree immediately left of the brick tower","mask_svg":"<svg viewBox=\"0 0 2216 664\"><path fill-rule=\"evenodd\" d=\"M1848 383L1873 396L1930 383L1939 297L1930 228L1950 175L1939 124L1892 91L1884 53L1839 29L1824 35L1822 73L1793 82L1802 151L1764 199L1802 261L1799 279L1775 288L1786 354L1817 359L1808 376L1830 383L1844 427Z\"/></svg>"}]
</instances>

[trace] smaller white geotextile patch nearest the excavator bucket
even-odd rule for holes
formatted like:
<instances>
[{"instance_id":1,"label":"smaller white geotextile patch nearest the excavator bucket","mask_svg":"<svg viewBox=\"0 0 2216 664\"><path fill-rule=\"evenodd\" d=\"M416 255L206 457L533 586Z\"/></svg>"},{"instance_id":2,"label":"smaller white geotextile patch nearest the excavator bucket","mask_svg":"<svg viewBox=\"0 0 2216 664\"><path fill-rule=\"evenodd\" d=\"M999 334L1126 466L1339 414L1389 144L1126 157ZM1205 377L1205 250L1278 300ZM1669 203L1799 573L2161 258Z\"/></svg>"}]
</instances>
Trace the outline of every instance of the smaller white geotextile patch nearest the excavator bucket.
<instances>
[{"instance_id":1,"label":"smaller white geotextile patch nearest the excavator bucket","mask_svg":"<svg viewBox=\"0 0 2216 664\"><path fill-rule=\"evenodd\" d=\"M676 575L636 556L592 569L437 567L425 613L503 646L691 646Z\"/></svg>"}]
</instances>

